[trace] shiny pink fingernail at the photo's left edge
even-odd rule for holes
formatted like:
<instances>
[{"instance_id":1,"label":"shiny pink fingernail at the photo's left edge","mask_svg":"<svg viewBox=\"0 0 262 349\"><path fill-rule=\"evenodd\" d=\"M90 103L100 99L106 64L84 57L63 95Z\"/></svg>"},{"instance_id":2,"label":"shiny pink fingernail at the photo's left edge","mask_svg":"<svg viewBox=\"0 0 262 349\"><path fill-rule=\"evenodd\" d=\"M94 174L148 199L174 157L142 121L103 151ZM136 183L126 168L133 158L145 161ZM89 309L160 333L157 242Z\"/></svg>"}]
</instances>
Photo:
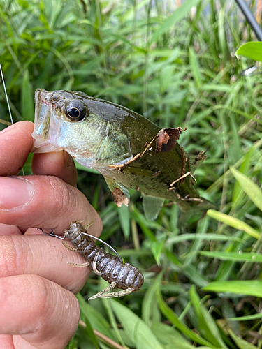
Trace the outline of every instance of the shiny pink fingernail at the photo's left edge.
<instances>
[{"instance_id":1,"label":"shiny pink fingernail at the photo's left edge","mask_svg":"<svg viewBox=\"0 0 262 349\"><path fill-rule=\"evenodd\" d=\"M31 181L22 177L0 177L0 208L15 209L28 205L34 195Z\"/></svg>"}]
</instances>

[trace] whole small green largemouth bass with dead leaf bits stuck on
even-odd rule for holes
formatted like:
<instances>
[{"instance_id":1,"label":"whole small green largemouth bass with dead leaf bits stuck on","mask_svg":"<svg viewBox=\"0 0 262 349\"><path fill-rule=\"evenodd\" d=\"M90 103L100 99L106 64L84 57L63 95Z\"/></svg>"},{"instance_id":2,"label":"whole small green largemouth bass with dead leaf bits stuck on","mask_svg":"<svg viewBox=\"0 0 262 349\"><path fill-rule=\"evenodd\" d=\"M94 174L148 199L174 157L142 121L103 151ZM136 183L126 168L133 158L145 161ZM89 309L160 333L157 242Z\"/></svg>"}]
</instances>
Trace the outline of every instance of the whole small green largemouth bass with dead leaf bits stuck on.
<instances>
[{"instance_id":1,"label":"whole small green largemouth bass with dead leaf bits stuck on","mask_svg":"<svg viewBox=\"0 0 262 349\"><path fill-rule=\"evenodd\" d=\"M184 152L177 142L182 128L160 129L136 112L82 92L37 89L35 102L35 153L64 149L99 171L118 206L128 205L127 188L133 188L143 195L148 219L157 218L166 199L186 217L214 207L194 187L204 151L194 158Z\"/></svg>"}]
</instances>

